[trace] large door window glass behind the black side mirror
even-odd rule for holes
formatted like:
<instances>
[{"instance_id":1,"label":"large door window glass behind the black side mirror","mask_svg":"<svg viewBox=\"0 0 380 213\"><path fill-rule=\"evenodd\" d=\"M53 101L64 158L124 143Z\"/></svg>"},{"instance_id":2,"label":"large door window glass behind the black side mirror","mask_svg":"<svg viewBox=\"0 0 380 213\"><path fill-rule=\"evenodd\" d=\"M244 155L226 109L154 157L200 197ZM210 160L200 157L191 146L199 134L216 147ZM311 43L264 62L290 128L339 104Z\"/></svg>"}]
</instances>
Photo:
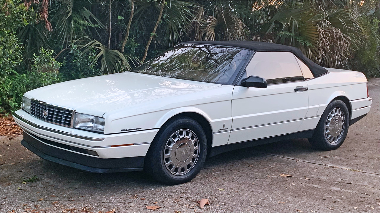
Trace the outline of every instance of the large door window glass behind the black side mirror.
<instances>
[{"instance_id":1,"label":"large door window glass behind the black side mirror","mask_svg":"<svg viewBox=\"0 0 380 213\"><path fill-rule=\"evenodd\" d=\"M256 52L246 71L247 76L263 77L268 84L304 80L296 57L289 52Z\"/></svg>"}]
</instances>

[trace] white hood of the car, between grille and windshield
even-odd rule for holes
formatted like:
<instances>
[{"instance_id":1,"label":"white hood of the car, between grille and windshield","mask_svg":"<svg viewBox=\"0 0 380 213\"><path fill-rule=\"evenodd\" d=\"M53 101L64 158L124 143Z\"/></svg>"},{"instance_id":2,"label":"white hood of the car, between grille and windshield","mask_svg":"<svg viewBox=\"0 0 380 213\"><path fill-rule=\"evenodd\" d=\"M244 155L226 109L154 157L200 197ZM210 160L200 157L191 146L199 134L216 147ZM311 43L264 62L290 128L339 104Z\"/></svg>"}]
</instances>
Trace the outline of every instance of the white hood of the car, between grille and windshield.
<instances>
[{"instance_id":1,"label":"white hood of the car, between grille and windshield","mask_svg":"<svg viewBox=\"0 0 380 213\"><path fill-rule=\"evenodd\" d=\"M82 78L26 92L25 97L73 108L78 113L104 113L135 103L185 94L220 85L154 75L123 72Z\"/></svg>"}]
</instances>

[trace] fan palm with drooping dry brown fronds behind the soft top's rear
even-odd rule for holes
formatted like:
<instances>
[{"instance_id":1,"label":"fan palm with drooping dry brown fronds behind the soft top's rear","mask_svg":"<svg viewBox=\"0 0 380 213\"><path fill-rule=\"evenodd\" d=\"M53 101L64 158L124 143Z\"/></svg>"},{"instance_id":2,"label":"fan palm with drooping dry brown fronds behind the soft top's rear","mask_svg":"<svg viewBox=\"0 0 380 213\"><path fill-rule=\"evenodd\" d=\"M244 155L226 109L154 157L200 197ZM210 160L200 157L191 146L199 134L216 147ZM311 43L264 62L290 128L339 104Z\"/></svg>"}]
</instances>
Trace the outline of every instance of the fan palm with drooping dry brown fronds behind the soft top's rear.
<instances>
[{"instance_id":1,"label":"fan palm with drooping dry brown fronds behind the soft top's rear","mask_svg":"<svg viewBox=\"0 0 380 213\"><path fill-rule=\"evenodd\" d=\"M309 6L287 8L282 5L261 25L253 39L298 47L323 66L340 67L348 60L351 45L362 42L361 32L358 14L351 9L328 14Z\"/></svg>"}]
</instances>

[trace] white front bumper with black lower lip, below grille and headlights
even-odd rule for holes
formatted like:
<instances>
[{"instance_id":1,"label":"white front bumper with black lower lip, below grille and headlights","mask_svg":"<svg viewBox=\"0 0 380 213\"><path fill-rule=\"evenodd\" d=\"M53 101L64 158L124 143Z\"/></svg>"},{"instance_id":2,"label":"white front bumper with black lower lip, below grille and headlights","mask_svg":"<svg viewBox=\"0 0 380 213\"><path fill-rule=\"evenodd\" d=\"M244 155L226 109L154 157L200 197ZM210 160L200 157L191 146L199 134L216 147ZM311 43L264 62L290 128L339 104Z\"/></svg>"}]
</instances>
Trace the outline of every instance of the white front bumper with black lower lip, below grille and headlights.
<instances>
[{"instance_id":1,"label":"white front bumper with black lower lip, below grille and headlights","mask_svg":"<svg viewBox=\"0 0 380 213\"><path fill-rule=\"evenodd\" d=\"M13 118L24 130L23 146L43 159L90 172L141 170L158 132L93 133L44 122L23 110Z\"/></svg>"}]
</instances>

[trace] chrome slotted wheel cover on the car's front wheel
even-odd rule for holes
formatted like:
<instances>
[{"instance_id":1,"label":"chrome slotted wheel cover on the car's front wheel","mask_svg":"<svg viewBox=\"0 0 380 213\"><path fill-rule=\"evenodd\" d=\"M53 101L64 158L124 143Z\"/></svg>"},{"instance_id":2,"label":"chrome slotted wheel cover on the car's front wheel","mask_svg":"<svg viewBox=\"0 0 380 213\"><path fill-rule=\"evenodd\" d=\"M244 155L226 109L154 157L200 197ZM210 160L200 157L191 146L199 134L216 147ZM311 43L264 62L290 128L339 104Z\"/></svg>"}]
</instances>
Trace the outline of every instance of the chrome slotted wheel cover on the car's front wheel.
<instances>
[{"instance_id":1,"label":"chrome slotted wheel cover on the car's front wheel","mask_svg":"<svg viewBox=\"0 0 380 213\"><path fill-rule=\"evenodd\" d=\"M166 169L174 175L192 170L199 157L199 143L195 133L181 129L171 135L165 144L163 160Z\"/></svg>"}]
</instances>

